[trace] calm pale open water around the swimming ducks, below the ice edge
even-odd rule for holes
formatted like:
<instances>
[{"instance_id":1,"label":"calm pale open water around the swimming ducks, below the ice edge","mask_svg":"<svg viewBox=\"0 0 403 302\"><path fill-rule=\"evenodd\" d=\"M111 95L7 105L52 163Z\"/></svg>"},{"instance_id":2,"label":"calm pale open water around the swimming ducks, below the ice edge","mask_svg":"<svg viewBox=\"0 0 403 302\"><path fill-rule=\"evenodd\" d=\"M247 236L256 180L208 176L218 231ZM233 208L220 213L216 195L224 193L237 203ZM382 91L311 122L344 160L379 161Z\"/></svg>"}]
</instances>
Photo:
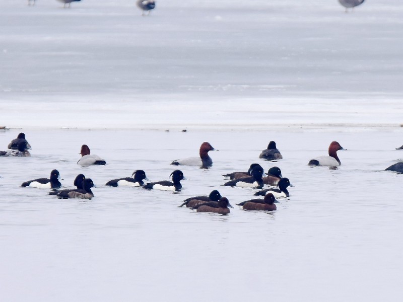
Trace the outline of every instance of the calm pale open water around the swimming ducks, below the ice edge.
<instances>
[{"instance_id":1,"label":"calm pale open water around the swimming ducks, below the ice edge","mask_svg":"<svg viewBox=\"0 0 403 302\"><path fill-rule=\"evenodd\" d=\"M0 163L0 265L5 300L393 300L401 296L403 211L400 175L383 171L403 157L400 128L289 131L26 131L31 158ZM19 131L0 132L2 145ZM257 157L276 140L284 160ZM170 161L211 152L209 170L183 167L179 194L109 188L144 169L168 179ZM306 164L338 140L342 166ZM76 165L82 143L107 166ZM221 174L252 162L281 168L295 188L275 212L227 216L177 205L218 189L235 205L254 190L224 187ZM58 169L63 186L84 173L99 186L91 201L58 200L19 187Z\"/></svg>"}]
</instances>

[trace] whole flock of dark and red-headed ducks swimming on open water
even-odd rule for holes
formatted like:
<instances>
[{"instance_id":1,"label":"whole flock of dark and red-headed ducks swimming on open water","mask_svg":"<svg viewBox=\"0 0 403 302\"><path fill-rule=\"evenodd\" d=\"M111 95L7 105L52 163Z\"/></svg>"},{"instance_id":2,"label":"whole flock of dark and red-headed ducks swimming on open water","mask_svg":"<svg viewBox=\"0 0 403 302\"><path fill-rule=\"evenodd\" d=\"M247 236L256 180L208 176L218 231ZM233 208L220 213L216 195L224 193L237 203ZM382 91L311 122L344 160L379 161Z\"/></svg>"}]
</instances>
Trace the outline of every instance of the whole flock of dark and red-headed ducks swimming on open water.
<instances>
[{"instance_id":1,"label":"whole flock of dark and red-headed ducks swimming on open water","mask_svg":"<svg viewBox=\"0 0 403 302\"><path fill-rule=\"evenodd\" d=\"M28 149L31 145L26 140L24 133L19 133L17 138L13 139L9 145L9 150L0 151L0 157L29 157L31 156ZM338 157L338 150L344 148L337 141L332 141L328 148L328 156L319 156L308 162L309 166L326 166L337 167L341 165ZM396 149L403 149L403 146ZM215 150L209 142L203 142L200 145L199 157L178 159L171 162L174 166L196 166L208 169L213 166L213 160L209 156L209 151ZM98 155L91 154L88 145L81 146L81 159L77 162L82 167L91 165L106 165L106 161ZM270 141L267 148L262 150L259 155L260 159L267 161L279 161L283 158L280 151L277 149L276 142ZM388 171L395 171L403 173L403 162L396 163L388 168ZM23 182L21 187L34 187L41 189L51 190L48 194L54 195L58 198L79 198L79 199L92 199L94 194L91 188L96 187L92 179L86 178L84 174L79 174L74 180L72 189L60 189L61 183L59 181L60 173L54 169L50 172L49 178L38 178ZM172 181L158 181L150 182L143 170L136 170L132 173L131 177L122 177L109 180L105 185L110 187L119 186L134 186L142 187L149 190L165 190L180 192L182 189L181 180L185 180L181 170L174 170L170 175ZM290 180L282 176L281 169L277 166L268 169L264 173L263 168L256 163L250 165L247 171L230 172L223 174L227 180L223 183L224 186L232 187L249 187L257 189L254 196L263 196L263 198L252 198L238 203L244 210L263 210L273 211L276 210L276 203L279 201L276 198L289 197L290 193L288 187L293 187ZM148 181L148 183L145 183ZM268 188L263 189L264 186ZM219 214L230 213L230 204L227 197L221 196L218 190L213 190L209 195L193 196L182 201L178 207L186 206L195 210L196 212L214 212Z\"/></svg>"}]
</instances>

